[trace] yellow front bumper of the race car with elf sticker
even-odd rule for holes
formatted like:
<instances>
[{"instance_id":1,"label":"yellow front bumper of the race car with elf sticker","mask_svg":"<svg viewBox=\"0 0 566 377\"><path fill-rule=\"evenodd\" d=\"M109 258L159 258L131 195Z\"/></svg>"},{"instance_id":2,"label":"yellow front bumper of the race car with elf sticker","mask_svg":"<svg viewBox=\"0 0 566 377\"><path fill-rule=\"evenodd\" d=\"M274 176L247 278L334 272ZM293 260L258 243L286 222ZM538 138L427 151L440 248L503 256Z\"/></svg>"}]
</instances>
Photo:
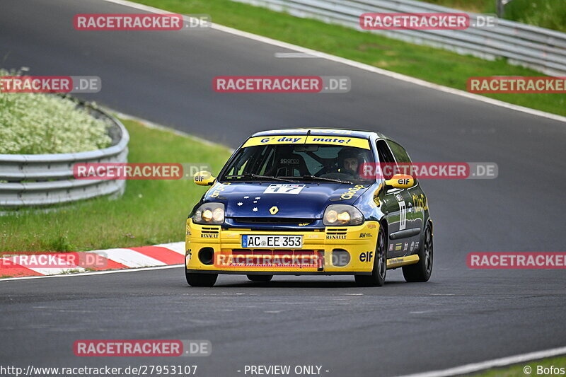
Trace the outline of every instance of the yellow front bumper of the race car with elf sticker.
<instances>
[{"instance_id":1,"label":"yellow front bumper of the race car with elf sticker","mask_svg":"<svg viewBox=\"0 0 566 377\"><path fill-rule=\"evenodd\" d=\"M185 265L189 272L218 274L371 274L379 226L378 221L366 221L313 231L253 231L193 224L187 219ZM303 245L299 249L242 248L244 234L303 236ZM201 253L214 253L214 257L202 258Z\"/></svg>"}]
</instances>

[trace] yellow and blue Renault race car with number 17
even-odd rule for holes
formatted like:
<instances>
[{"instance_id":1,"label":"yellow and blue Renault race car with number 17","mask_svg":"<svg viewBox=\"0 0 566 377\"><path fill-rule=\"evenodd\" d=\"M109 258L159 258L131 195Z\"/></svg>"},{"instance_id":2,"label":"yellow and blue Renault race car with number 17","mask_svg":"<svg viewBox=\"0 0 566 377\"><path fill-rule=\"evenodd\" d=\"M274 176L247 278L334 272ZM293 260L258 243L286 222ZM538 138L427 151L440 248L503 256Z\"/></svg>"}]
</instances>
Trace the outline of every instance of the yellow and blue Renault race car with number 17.
<instances>
[{"instance_id":1,"label":"yellow and blue Renault race car with number 17","mask_svg":"<svg viewBox=\"0 0 566 377\"><path fill-rule=\"evenodd\" d=\"M387 269L398 267L406 281L426 282L433 257L427 197L417 178L378 169L410 163L402 146L377 132L253 134L218 177L195 175L197 185L212 187L187 219L188 284L213 286L218 274L253 282L350 274L361 286L381 286Z\"/></svg>"}]
</instances>

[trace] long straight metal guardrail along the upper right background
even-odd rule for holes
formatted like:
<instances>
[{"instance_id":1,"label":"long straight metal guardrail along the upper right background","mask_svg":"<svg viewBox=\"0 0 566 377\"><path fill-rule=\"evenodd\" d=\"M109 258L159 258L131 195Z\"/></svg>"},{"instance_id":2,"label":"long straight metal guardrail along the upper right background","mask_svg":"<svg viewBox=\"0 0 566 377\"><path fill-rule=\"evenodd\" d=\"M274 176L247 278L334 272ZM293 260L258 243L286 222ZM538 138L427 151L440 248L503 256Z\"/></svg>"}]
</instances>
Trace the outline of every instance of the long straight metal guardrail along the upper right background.
<instances>
[{"instance_id":1,"label":"long straight metal guardrail along the upper right background","mask_svg":"<svg viewBox=\"0 0 566 377\"><path fill-rule=\"evenodd\" d=\"M362 13L465 13L414 0L233 0L302 18L316 18L362 30ZM477 13L468 13L470 25ZM466 30L371 30L418 45L471 54L483 59L505 57L510 64L527 66L550 76L566 76L566 33L498 19L497 26Z\"/></svg>"}]
</instances>

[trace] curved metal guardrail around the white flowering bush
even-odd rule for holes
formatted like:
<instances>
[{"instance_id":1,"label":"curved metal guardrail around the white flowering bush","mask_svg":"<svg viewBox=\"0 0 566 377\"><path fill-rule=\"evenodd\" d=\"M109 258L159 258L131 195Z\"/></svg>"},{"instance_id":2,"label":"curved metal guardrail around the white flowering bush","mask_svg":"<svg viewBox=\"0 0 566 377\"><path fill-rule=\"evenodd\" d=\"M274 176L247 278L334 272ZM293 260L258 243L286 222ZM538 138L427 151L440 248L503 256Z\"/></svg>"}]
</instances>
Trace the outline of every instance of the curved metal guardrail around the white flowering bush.
<instances>
[{"instance_id":1,"label":"curved metal guardrail around the white flowering bush","mask_svg":"<svg viewBox=\"0 0 566 377\"><path fill-rule=\"evenodd\" d=\"M45 206L102 195L122 195L125 180L77 180L75 163L125 163L129 134L115 117L86 103L91 115L110 120L112 145L98 151L58 154L0 154L0 208Z\"/></svg>"}]
</instances>

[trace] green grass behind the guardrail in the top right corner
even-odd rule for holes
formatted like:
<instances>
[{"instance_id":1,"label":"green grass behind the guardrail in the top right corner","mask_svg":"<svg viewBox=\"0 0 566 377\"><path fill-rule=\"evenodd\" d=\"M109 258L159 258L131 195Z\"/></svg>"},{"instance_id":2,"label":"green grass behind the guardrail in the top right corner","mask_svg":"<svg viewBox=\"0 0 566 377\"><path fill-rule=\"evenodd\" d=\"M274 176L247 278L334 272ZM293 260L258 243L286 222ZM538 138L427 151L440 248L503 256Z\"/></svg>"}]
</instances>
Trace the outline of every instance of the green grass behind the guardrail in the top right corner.
<instances>
[{"instance_id":1,"label":"green grass behind the guardrail in the top right corner","mask_svg":"<svg viewBox=\"0 0 566 377\"><path fill-rule=\"evenodd\" d=\"M495 13L495 0L422 0L427 3L463 9L476 13ZM564 0L513 0L505 6L504 17L566 32L566 1Z\"/></svg>"}]
</instances>

